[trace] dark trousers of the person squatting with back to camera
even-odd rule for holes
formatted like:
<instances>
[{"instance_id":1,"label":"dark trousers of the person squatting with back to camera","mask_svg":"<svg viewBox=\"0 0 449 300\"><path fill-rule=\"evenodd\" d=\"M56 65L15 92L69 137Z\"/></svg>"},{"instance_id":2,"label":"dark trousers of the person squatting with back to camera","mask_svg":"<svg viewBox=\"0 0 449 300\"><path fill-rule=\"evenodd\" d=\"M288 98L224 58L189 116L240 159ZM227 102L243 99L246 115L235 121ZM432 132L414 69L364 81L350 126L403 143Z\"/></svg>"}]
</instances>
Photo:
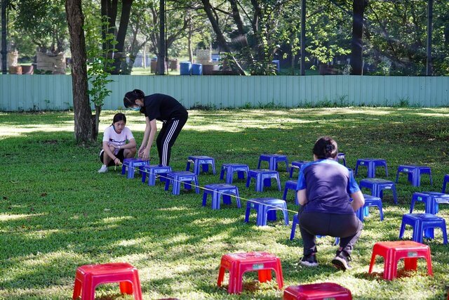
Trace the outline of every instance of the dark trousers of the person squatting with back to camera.
<instances>
[{"instance_id":1,"label":"dark trousers of the person squatting with back to camera","mask_svg":"<svg viewBox=\"0 0 449 300\"><path fill-rule=\"evenodd\" d=\"M301 209L298 216L302 242L304 243L304 255L317 251L316 235L340 237L340 247L350 255L363 228L363 223L355 214L304 212Z\"/></svg>"}]
</instances>

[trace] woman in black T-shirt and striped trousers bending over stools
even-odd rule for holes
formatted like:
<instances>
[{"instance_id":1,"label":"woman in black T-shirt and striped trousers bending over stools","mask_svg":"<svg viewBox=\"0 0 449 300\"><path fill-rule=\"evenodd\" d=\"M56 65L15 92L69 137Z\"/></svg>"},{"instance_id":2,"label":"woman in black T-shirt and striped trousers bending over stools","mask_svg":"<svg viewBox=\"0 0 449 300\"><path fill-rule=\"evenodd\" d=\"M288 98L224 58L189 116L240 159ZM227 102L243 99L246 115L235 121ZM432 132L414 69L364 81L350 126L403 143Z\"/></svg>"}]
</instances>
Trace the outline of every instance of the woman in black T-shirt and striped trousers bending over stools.
<instances>
[{"instance_id":1,"label":"woman in black T-shirt and striped trousers bending over stools","mask_svg":"<svg viewBox=\"0 0 449 300\"><path fill-rule=\"evenodd\" d=\"M157 127L156 120L161 121L162 129L156 139L159 153L159 165L166 167L170 163L171 148L177 136L187 122L188 113L184 106L175 98L162 93L145 96L145 93L135 89L128 91L123 98L125 107L140 110L145 114L145 133L138 155L142 159L149 159Z\"/></svg>"}]
</instances>

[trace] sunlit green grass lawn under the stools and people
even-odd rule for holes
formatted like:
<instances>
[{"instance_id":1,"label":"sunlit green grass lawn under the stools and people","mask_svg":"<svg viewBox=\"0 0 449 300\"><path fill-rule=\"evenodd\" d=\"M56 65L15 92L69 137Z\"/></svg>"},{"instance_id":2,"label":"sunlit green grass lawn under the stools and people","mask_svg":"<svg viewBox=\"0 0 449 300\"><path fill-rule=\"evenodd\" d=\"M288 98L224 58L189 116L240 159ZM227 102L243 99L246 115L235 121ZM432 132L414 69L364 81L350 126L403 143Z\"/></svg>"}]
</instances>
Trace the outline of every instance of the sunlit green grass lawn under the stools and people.
<instances>
[{"instance_id":1,"label":"sunlit green grass lawn under the stools and people","mask_svg":"<svg viewBox=\"0 0 449 300\"><path fill-rule=\"evenodd\" d=\"M138 143L144 118L126 112L128 126ZM102 112L102 132L114 112ZM388 178L394 180L398 164L431 167L434 185L423 176L420 188L406 175L396 186L398 205L384 194L385 220L376 209L366 218L353 253L352 270L335 270L333 239L319 239L320 266L298 264L302 256L299 230L288 240L290 226L280 218L264 228L255 226L255 214L244 223L244 209L235 202L222 209L201 207L202 195L183 191L173 196L158 183L143 185L140 177L127 180L119 169L98 174L99 142L87 148L74 143L72 112L19 114L0 112L0 299L69 299L77 266L126 261L140 273L145 299L281 299L276 282L255 283L246 273L241 295L228 295L217 287L222 254L267 251L281 258L284 285L336 282L351 289L354 299L444 299L449 285L448 246L441 230L431 247L434 276L427 276L424 260L418 271L401 272L394 281L382 280L382 259L368 275L373 244L396 240L401 216L408 212L413 192L441 191L449 173L449 108L348 107L294 110L189 111L189 121L175 143L171 166L185 168L189 155L215 157L222 163L241 162L257 167L261 153L283 153L290 161L311 159L316 138L333 136L347 155L349 167L357 158L387 159ZM156 162L156 148L152 150ZM287 181L281 167L282 185ZM363 178L363 169L361 176ZM378 177L386 178L383 171ZM219 174L201 174L200 185L218 183ZM241 197L282 197L271 188L255 193L237 181ZM246 203L243 201L242 203ZM293 193L288 208L297 211ZM424 211L418 203L417 212ZM448 219L449 207L439 216ZM290 221L293 214L290 213ZM410 228L406 238L411 237ZM400 263L400 267L403 262ZM225 278L227 284L227 277ZM119 294L118 285L100 285L100 299L131 299Z\"/></svg>"}]
</instances>

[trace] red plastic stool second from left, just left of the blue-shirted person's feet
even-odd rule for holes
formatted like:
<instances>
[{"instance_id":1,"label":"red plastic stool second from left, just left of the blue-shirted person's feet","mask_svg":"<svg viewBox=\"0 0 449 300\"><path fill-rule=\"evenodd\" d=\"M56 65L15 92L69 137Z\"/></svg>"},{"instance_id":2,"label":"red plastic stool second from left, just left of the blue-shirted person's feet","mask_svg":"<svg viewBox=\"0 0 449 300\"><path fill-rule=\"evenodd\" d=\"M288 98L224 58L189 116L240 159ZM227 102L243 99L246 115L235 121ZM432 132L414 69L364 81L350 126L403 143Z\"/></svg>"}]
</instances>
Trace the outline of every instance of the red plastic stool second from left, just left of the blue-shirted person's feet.
<instances>
[{"instance_id":1,"label":"red plastic stool second from left, just left of the blue-shirted person's feet","mask_svg":"<svg viewBox=\"0 0 449 300\"><path fill-rule=\"evenodd\" d=\"M276 273L279 289L283 287L281 260L267 252L225 254L222 256L217 285L222 286L225 270L229 271L229 294L240 294L243 287L243 273L257 271L259 282L272 280L272 270Z\"/></svg>"}]
</instances>

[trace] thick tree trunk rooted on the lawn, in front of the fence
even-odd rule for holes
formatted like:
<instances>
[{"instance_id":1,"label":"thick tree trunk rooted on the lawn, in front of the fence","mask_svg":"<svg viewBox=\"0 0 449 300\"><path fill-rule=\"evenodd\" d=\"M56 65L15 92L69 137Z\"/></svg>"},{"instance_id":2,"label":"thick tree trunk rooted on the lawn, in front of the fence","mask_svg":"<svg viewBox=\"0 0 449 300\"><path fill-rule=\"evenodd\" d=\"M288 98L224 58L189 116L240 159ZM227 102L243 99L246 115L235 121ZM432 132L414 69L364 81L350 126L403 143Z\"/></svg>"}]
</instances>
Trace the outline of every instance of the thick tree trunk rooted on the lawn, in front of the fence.
<instances>
[{"instance_id":1,"label":"thick tree trunk rooted on the lawn, in front of the fence","mask_svg":"<svg viewBox=\"0 0 449 300\"><path fill-rule=\"evenodd\" d=\"M78 143L91 143L97 140L98 128L95 128L88 96L86 68L86 41L84 39L84 16L81 0L66 0L65 12L69 25L70 50L72 51L72 90L75 121L75 138Z\"/></svg>"}]
</instances>

